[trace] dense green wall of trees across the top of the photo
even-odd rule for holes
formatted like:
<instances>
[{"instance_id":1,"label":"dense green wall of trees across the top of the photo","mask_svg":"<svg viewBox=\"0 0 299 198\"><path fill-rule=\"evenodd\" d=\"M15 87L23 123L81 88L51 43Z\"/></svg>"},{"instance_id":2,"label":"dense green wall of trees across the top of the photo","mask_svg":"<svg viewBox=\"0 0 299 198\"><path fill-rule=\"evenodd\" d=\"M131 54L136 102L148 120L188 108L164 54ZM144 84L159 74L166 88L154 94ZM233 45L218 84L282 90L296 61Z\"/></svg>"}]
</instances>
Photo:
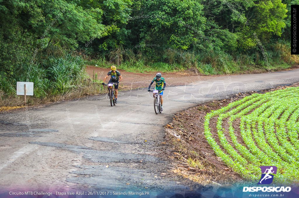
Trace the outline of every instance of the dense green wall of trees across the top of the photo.
<instances>
[{"instance_id":1,"label":"dense green wall of trees across the top of the photo","mask_svg":"<svg viewBox=\"0 0 299 198\"><path fill-rule=\"evenodd\" d=\"M194 66L244 53L252 62L254 36L271 50L279 39L288 49L291 4L299 0L0 0L0 87L42 63L49 49L58 56L132 49L127 57L138 53L145 62L167 61L171 49L192 54Z\"/></svg>"}]
</instances>

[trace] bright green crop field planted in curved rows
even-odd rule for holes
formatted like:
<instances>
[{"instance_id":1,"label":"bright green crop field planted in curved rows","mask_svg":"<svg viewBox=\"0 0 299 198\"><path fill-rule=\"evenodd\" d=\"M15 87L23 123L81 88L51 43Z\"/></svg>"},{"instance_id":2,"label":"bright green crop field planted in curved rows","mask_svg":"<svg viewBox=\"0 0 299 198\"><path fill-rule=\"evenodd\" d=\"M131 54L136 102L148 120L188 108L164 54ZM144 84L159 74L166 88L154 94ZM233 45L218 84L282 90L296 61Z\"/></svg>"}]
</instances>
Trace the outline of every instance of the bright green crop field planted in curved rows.
<instances>
[{"instance_id":1,"label":"bright green crop field planted in curved rows","mask_svg":"<svg viewBox=\"0 0 299 198\"><path fill-rule=\"evenodd\" d=\"M207 114L205 137L216 155L243 177L258 180L260 166L268 165L277 166L274 181L295 182L299 180L298 117L299 87L253 94ZM218 137L210 127L215 118Z\"/></svg>"}]
</instances>

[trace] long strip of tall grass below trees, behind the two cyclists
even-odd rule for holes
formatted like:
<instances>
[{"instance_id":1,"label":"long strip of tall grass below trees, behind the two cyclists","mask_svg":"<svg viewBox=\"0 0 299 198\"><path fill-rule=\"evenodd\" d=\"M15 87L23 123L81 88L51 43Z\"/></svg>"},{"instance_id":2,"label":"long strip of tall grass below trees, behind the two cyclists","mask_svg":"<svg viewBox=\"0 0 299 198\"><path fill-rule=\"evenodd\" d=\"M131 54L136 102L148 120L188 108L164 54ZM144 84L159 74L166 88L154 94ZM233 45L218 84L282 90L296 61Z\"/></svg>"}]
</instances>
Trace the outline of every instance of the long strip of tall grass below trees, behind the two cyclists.
<instances>
[{"instance_id":1,"label":"long strip of tall grass below trees, behind the two cyclists","mask_svg":"<svg viewBox=\"0 0 299 198\"><path fill-rule=\"evenodd\" d=\"M132 49L117 48L107 53L106 58L103 55L99 60L89 61L88 64L107 68L118 64L119 69L130 72L172 72L196 68L199 73L213 75L274 71L299 63L299 56L290 54L290 44L286 41L271 41L263 47L267 51L268 62L262 57L263 54L258 47L245 53L232 54L213 49L204 49L195 53L168 48L153 58L145 57L141 52L135 53ZM152 61L159 57L161 61Z\"/></svg>"}]
</instances>

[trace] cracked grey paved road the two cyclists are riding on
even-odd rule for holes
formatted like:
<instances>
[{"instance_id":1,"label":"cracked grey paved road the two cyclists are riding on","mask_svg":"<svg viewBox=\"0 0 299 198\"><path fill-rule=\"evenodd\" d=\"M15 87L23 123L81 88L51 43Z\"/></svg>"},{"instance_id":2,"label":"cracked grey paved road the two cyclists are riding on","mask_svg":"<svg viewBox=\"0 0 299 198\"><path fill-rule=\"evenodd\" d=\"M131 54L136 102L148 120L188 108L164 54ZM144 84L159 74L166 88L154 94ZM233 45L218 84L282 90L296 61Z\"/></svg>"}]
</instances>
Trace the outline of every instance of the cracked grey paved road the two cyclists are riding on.
<instances>
[{"instance_id":1,"label":"cracked grey paved road the two cyclists are riding on","mask_svg":"<svg viewBox=\"0 0 299 198\"><path fill-rule=\"evenodd\" d=\"M161 155L163 126L174 113L237 92L296 82L299 69L166 87L158 115L147 88L119 92L113 107L107 95L95 95L3 112L0 191L186 191L192 182L170 175L170 161Z\"/></svg>"}]
</instances>

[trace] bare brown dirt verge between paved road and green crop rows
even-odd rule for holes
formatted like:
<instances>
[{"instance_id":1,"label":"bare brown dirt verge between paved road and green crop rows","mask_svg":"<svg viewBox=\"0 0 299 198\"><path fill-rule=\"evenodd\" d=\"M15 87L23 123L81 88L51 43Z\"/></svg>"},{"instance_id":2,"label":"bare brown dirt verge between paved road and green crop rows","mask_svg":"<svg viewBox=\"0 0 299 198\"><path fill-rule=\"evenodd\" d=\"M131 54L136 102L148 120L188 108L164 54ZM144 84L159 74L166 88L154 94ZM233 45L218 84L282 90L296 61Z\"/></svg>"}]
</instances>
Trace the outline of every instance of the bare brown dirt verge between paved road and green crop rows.
<instances>
[{"instance_id":1,"label":"bare brown dirt verge between paved road and green crop rows","mask_svg":"<svg viewBox=\"0 0 299 198\"><path fill-rule=\"evenodd\" d=\"M295 83L291 86L298 87L299 83ZM231 168L225 165L210 147L204 135L205 116L212 110L225 107L229 103L240 100L251 94L264 94L266 92L285 89L287 87L290 86L278 86L270 90L249 92L245 94L239 93L234 95L231 99L211 101L174 114L173 121L165 126L167 138L166 142L174 145L173 152L175 154L174 156L177 158L177 169L175 169L174 172L201 183L202 181L205 181L205 183L216 182L220 184L232 184L234 182L244 180L242 176L235 173ZM210 132L213 134L217 144L221 147L217 134L216 122L217 119L212 118L210 120ZM225 120L224 123L226 123ZM233 123L233 127L239 143L245 146L245 143L241 140L239 120L236 120ZM231 146L233 146L230 135L227 134L226 137ZM188 168L192 166L192 163L190 163L191 159L198 160L202 167L195 169Z\"/></svg>"}]
</instances>

